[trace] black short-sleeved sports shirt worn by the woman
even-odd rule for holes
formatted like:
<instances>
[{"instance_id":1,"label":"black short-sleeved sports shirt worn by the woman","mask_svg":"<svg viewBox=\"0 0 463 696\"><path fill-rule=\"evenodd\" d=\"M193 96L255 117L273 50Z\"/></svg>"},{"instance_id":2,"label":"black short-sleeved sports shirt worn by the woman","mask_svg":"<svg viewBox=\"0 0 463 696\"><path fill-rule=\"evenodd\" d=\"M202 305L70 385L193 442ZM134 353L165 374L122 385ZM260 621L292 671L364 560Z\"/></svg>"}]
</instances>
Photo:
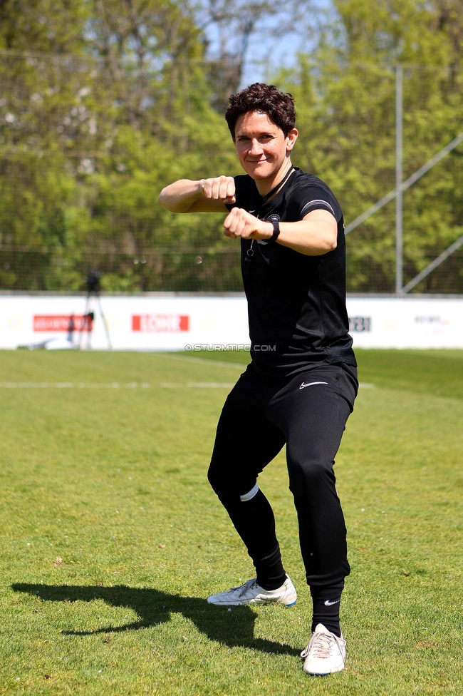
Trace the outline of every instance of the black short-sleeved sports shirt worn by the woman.
<instances>
[{"instance_id":1,"label":"black short-sleeved sports shirt worn by the woman","mask_svg":"<svg viewBox=\"0 0 463 696\"><path fill-rule=\"evenodd\" d=\"M338 245L321 256L306 256L278 242L241 240L241 267L248 300L251 358L269 377L303 372L321 363L354 365L345 309L343 214L321 179L300 169L262 204L249 175L234 178L236 203L261 220L296 222L311 210L328 210L338 222ZM252 247L251 247L252 243ZM251 262L245 262L249 259Z\"/></svg>"}]
</instances>

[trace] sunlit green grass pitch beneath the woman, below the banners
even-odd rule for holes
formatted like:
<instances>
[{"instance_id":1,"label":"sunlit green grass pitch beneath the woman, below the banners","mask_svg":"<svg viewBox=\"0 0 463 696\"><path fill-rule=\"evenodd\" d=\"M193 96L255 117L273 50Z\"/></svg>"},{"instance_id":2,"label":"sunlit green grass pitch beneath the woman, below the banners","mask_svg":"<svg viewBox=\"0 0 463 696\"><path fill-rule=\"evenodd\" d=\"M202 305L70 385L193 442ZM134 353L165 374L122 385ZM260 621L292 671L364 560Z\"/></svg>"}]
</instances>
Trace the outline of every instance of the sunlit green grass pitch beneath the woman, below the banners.
<instances>
[{"instance_id":1,"label":"sunlit green grass pitch beneath the woman, below the banners","mask_svg":"<svg viewBox=\"0 0 463 696\"><path fill-rule=\"evenodd\" d=\"M253 572L206 478L246 355L0 352L0 694L461 695L463 352L358 360L348 665L317 678L283 453L261 487L298 603L206 602Z\"/></svg>"}]
</instances>

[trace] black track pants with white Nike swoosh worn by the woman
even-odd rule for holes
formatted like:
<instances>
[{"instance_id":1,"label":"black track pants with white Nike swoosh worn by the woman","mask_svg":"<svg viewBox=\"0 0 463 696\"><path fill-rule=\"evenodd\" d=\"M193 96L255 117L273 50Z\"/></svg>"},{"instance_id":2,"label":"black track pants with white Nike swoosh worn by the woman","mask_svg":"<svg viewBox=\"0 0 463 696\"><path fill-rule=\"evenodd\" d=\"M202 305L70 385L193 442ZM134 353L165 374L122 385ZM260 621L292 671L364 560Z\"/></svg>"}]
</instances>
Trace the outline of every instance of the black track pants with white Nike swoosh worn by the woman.
<instances>
[{"instance_id":1,"label":"black track pants with white Nike swoosh worn by the woman","mask_svg":"<svg viewBox=\"0 0 463 696\"><path fill-rule=\"evenodd\" d=\"M208 476L256 568L275 557L278 541L263 493L254 503L246 496L255 497L257 476L286 443L307 582L335 585L349 574L333 464L357 387L350 366L323 365L269 381L251 364L227 397Z\"/></svg>"}]
</instances>

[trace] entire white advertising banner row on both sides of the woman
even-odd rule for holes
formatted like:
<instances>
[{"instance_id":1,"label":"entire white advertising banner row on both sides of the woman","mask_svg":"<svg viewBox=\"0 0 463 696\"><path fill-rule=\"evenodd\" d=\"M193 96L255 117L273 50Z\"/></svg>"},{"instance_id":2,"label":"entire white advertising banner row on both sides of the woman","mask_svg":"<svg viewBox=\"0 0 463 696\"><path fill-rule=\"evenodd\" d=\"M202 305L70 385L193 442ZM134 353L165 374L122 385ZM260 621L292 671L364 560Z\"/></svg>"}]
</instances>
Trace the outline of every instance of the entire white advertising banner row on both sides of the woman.
<instances>
[{"instance_id":1,"label":"entire white advertising banner row on both sides of the woman","mask_svg":"<svg viewBox=\"0 0 463 696\"><path fill-rule=\"evenodd\" d=\"M463 348L463 299L349 297L348 314L357 347ZM105 295L87 305L81 295L0 295L0 348L39 345L236 350L249 345L246 300Z\"/></svg>"}]
</instances>

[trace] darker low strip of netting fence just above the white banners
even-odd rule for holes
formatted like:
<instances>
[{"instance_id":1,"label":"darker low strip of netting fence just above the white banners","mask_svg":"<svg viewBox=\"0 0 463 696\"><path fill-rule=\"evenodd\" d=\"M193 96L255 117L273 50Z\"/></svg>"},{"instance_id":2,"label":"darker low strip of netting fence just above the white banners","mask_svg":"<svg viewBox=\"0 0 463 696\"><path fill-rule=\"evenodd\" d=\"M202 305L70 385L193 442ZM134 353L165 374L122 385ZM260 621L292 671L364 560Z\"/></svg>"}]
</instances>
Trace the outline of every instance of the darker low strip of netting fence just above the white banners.
<instances>
[{"instance_id":1,"label":"darker low strip of netting fence just above the white banners","mask_svg":"<svg viewBox=\"0 0 463 696\"><path fill-rule=\"evenodd\" d=\"M444 251L444 250L442 250ZM435 252L422 255L422 265L435 260ZM348 255L347 290L351 294L394 294L393 260L384 267L363 257L361 271ZM230 249L151 249L142 254L83 250L68 256L53 249L0 247L0 290L85 289L90 270L101 275L103 291L118 292L242 292L239 247ZM405 264L404 281L415 277L416 266ZM453 252L412 293L463 295L463 246Z\"/></svg>"}]
</instances>

